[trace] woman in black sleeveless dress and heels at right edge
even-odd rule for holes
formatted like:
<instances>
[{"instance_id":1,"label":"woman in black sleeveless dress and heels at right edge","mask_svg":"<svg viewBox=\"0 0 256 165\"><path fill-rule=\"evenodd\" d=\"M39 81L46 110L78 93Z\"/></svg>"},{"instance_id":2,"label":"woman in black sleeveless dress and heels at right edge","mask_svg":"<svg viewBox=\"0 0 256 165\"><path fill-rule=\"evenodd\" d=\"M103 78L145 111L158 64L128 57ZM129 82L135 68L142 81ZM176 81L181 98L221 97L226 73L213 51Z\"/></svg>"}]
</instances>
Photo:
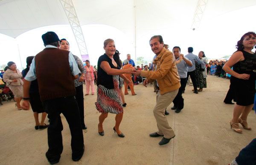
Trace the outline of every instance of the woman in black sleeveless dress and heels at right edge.
<instances>
[{"instance_id":1,"label":"woman in black sleeveless dress and heels at right edge","mask_svg":"<svg viewBox=\"0 0 256 165\"><path fill-rule=\"evenodd\" d=\"M255 45L256 34L254 32L244 34L241 40L237 42L237 51L223 66L223 70L231 74L230 86L234 100L236 100L230 126L240 134L242 130L239 129L239 123L246 130L252 129L248 127L247 116L253 108L255 95L256 54L252 51ZM233 70L231 69L232 66Z\"/></svg>"}]
</instances>

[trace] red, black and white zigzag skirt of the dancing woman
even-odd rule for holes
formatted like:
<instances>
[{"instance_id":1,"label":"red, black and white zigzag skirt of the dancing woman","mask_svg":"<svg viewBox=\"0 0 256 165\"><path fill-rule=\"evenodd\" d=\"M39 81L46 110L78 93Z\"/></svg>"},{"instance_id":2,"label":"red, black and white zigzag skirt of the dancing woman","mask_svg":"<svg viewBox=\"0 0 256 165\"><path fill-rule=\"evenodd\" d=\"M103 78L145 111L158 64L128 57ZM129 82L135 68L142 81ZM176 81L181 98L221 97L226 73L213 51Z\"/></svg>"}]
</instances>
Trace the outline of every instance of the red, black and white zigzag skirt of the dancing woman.
<instances>
[{"instance_id":1,"label":"red, black and white zigzag skirt of the dancing woman","mask_svg":"<svg viewBox=\"0 0 256 165\"><path fill-rule=\"evenodd\" d=\"M119 89L119 75L113 76L114 88L108 89L98 85L96 109L103 114L120 114L123 112L122 99Z\"/></svg>"}]
</instances>

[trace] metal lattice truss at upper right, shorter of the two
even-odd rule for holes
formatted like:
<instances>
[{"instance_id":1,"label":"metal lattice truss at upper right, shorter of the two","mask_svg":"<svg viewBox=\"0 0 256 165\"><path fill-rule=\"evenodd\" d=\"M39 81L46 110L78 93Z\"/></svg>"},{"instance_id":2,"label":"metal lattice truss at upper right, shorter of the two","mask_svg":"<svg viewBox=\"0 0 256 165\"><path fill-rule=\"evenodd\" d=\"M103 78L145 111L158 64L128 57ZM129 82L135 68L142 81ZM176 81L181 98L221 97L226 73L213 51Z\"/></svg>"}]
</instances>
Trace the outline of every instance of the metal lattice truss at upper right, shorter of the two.
<instances>
[{"instance_id":1,"label":"metal lattice truss at upper right, shorter of the two","mask_svg":"<svg viewBox=\"0 0 256 165\"><path fill-rule=\"evenodd\" d=\"M191 28L199 28L208 0L198 0Z\"/></svg>"}]
</instances>

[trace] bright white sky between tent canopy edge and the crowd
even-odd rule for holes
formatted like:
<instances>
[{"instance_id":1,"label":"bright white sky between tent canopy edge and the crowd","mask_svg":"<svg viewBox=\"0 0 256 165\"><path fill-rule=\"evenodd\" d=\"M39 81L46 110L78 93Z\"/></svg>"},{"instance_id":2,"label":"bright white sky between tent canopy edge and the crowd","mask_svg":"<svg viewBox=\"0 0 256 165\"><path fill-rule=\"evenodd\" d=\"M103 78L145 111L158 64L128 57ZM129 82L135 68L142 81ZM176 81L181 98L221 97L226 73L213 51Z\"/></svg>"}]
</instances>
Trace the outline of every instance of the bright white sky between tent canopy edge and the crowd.
<instances>
[{"instance_id":1,"label":"bright white sky between tent canopy edge and the crowd","mask_svg":"<svg viewBox=\"0 0 256 165\"><path fill-rule=\"evenodd\" d=\"M187 48L191 46L194 48L194 54L197 55L199 51L204 51L208 59L230 56L236 51L236 43L244 33L256 31L255 21L252 19L254 17L244 17L241 14L246 12L247 15L255 15L254 9L255 6L252 6L216 16L211 20L204 20L204 24L201 24L200 28L196 28L195 31L174 26L149 31L143 36L138 35L136 57L144 57L145 60L151 61L154 54L149 46L149 39L158 34L163 36L164 43L170 46L170 50L174 46L180 46L182 54L187 54ZM115 41L116 49L121 53L121 60L126 59L126 54L131 54L131 59L135 61L134 36L128 36L119 29L107 25L83 25L81 28L92 65L96 65L99 56L104 54L103 42L108 38ZM0 34L0 66L13 61L17 68L25 68L26 57L35 56L44 49L41 35L47 31L55 31L60 39L66 38L70 43L70 51L81 58L70 25L55 25L27 31L17 38Z\"/></svg>"}]
</instances>

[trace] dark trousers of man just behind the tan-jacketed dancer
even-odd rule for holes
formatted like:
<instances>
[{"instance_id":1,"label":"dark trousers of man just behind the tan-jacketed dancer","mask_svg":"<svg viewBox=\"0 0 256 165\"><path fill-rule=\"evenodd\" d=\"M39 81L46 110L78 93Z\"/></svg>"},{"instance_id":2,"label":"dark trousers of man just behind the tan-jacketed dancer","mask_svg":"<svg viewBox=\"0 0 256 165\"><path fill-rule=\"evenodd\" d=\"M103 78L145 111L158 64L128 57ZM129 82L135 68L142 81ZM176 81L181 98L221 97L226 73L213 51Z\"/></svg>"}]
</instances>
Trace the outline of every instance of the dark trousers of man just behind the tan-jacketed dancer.
<instances>
[{"instance_id":1,"label":"dark trousers of man just behind the tan-jacketed dancer","mask_svg":"<svg viewBox=\"0 0 256 165\"><path fill-rule=\"evenodd\" d=\"M178 91L178 94L176 95L175 99L172 101L174 106L177 107L177 109L183 109L184 107L184 99L182 97L182 92L185 90L186 87L186 78L180 78L180 88Z\"/></svg>"}]
</instances>

